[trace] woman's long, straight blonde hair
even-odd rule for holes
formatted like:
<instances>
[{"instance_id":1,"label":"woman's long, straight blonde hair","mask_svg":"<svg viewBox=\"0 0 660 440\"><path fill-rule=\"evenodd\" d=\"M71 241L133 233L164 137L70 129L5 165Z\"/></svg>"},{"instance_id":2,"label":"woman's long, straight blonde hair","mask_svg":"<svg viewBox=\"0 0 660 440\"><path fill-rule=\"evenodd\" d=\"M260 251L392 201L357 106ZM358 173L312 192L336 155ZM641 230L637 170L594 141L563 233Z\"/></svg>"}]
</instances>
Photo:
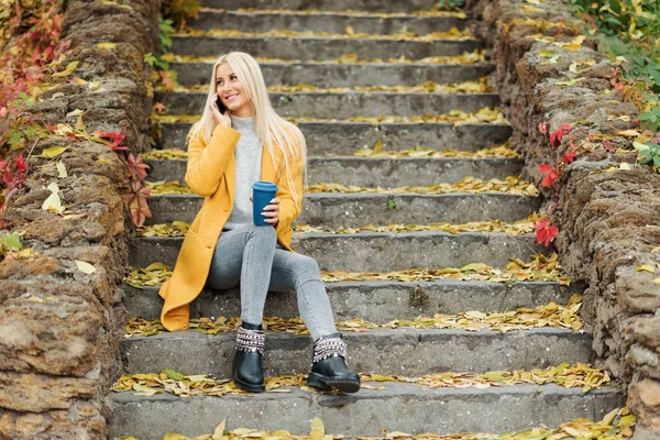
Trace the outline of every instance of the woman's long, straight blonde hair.
<instances>
[{"instance_id":1,"label":"woman's long, straight blonde hair","mask_svg":"<svg viewBox=\"0 0 660 440\"><path fill-rule=\"evenodd\" d=\"M206 101L207 105L204 107L204 113L199 122L195 123L190 129L188 140L190 138L201 138L205 143L209 143L211 140L213 129L217 124L208 103L216 94L216 70L222 63L230 65L237 78L243 85L243 90L254 110L256 134L265 147L268 148L268 153L271 153L271 157L273 158L273 166L279 174L280 172L274 154L275 148L277 148L282 153L284 174L288 186L292 189L295 188L290 173L290 162L301 160L304 176L307 176L307 143L305 142L305 136L302 136L302 132L296 125L275 113L268 98L268 90L266 89L261 67L256 63L256 59L244 52L230 52L220 55L216 64L213 64L209 94ZM292 195L294 201L298 202L296 191L292 190Z\"/></svg>"}]
</instances>

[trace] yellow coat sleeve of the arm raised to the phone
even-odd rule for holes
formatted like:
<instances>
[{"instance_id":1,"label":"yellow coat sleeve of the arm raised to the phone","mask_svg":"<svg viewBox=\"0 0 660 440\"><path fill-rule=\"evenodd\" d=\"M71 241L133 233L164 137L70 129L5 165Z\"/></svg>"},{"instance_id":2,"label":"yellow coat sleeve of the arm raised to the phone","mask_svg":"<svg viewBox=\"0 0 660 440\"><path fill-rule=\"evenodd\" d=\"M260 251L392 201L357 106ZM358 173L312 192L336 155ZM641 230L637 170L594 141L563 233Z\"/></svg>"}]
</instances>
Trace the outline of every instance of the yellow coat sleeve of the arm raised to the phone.
<instances>
[{"instance_id":1,"label":"yellow coat sleeve of the arm raised to the phone","mask_svg":"<svg viewBox=\"0 0 660 440\"><path fill-rule=\"evenodd\" d=\"M238 131L218 124L208 144L199 136L190 139L186 184L193 191L202 197L216 193L239 138Z\"/></svg>"}]
</instances>

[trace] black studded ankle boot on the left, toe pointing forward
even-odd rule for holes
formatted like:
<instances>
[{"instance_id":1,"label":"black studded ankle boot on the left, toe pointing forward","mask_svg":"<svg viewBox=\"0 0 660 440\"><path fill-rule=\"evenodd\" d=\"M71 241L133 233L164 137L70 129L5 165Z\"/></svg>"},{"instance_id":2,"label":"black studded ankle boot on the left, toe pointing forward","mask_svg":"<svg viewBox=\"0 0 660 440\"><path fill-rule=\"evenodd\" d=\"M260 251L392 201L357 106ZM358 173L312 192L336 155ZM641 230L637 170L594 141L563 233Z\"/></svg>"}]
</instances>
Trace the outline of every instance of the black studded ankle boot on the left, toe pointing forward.
<instances>
[{"instance_id":1,"label":"black studded ankle boot on the left, toe pointing forward","mask_svg":"<svg viewBox=\"0 0 660 440\"><path fill-rule=\"evenodd\" d=\"M243 322L237 333L237 352L233 361L234 384L250 393L263 393L264 331L261 324Z\"/></svg>"}]
</instances>

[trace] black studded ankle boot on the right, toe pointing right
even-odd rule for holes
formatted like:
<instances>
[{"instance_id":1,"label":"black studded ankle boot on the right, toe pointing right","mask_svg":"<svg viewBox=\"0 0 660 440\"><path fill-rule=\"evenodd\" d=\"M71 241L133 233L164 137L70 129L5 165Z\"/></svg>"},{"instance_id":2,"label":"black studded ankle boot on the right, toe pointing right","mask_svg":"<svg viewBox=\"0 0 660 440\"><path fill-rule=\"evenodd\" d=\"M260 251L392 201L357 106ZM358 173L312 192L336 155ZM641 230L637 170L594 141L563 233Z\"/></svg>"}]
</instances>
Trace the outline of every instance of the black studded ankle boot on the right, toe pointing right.
<instances>
[{"instance_id":1,"label":"black studded ankle boot on the right, toe pointing right","mask_svg":"<svg viewBox=\"0 0 660 440\"><path fill-rule=\"evenodd\" d=\"M332 388L342 393L356 393L360 376L346 366L346 343L341 333L332 333L319 339L314 345L311 373L307 385L329 392Z\"/></svg>"}]
</instances>

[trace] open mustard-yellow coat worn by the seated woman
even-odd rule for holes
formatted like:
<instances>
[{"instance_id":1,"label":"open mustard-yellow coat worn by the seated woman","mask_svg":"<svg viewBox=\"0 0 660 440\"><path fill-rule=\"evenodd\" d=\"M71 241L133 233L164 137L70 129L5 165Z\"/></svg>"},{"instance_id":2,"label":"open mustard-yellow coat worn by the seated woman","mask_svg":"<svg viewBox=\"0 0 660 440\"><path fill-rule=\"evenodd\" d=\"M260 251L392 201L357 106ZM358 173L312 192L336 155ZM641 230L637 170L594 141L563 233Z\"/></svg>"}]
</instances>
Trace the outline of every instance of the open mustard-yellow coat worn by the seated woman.
<instances>
[{"instance_id":1,"label":"open mustard-yellow coat worn by the seated woman","mask_svg":"<svg viewBox=\"0 0 660 440\"><path fill-rule=\"evenodd\" d=\"M208 144L200 139L190 139L186 183L205 199L186 234L172 278L163 284L158 293L165 300L161 321L169 331L188 328L189 305L206 284L216 244L233 208L237 168L234 148L240 136L241 133L235 130L217 125ZM278 187L277 197L282 201L277 241L292 251L292 223L301 209L302 163L299 161L289 164L294 182L294 188L290 188L284 174L282 153L278 148L273 150L275 161L268 148L263 148L261 178L273 182ZM294 193L297 195L297 202L294 201Z\"/></svg>"}]
</instances>

